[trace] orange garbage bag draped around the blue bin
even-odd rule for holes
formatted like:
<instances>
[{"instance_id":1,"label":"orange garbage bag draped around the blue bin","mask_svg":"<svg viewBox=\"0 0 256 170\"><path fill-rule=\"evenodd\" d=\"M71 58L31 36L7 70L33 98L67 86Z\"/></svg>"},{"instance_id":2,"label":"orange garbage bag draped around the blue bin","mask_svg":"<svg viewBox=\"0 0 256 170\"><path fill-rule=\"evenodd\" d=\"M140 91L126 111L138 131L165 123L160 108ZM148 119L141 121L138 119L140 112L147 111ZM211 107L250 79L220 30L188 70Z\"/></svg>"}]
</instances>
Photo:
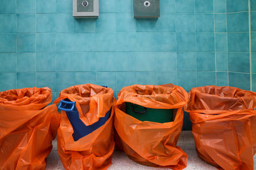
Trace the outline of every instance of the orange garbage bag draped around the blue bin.
<instances>
[{"instance_id":1,"label":"orange garbage bag draped around the blue bin","mask_svg":"<svg viewBox=\"0 0 256 170\"><path fill-rule=\"evenodd\" d=\"M62 90L54 103L60 103L63 99L76 101L79 118L85 125L92 125L113 107L113 94L112 89L99 85L76 85ZM108 169L115 149L113 115L112 109L104 125L74 141L72 125L65 111L61 110L57 141L58 153L65 169Z\"/></svg>"}]
</instances>

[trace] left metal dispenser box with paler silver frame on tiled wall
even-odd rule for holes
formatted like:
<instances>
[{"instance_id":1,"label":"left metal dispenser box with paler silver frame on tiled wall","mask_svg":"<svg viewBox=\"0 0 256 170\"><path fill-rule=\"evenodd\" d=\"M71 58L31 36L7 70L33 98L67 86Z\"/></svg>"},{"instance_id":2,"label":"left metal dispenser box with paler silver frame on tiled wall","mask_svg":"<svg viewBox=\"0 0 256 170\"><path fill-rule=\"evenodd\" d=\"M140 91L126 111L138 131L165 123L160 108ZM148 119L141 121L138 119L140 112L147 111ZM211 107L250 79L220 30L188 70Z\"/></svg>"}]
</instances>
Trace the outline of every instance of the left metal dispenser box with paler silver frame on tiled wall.
<instances>
[{"instance_id":1,"label":"left metal dispenser box with paler silver frame on tiled wall","mask_svg":"<svg viewBox=\"0 0 256 170\"><path fill-rule=\"evenodd\" d=\"M73 17L99 17L99 0L73 0Z\"/></svg>"}]
</instances>

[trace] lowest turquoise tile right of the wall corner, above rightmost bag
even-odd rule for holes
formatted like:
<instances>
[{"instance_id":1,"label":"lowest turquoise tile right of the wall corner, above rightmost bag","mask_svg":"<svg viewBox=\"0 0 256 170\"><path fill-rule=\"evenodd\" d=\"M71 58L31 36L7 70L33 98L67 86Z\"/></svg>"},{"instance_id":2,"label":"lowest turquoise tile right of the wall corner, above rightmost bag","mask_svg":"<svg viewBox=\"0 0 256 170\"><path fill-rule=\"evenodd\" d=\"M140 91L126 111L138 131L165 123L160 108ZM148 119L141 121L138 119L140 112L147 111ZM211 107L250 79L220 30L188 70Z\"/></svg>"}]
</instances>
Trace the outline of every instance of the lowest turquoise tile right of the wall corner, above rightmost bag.
<instances>
[{"instance_id":1,"label":"lowest turquoise tile right of the wall corner, above rightmost bag","mask_svg":"<svg viewBox=\"0 0 256 170\"><path fill-rule=\"evenodd\" d=\"M228 73L229 86L250 90L250 74Z\"/></svg>"}]
</instances>

